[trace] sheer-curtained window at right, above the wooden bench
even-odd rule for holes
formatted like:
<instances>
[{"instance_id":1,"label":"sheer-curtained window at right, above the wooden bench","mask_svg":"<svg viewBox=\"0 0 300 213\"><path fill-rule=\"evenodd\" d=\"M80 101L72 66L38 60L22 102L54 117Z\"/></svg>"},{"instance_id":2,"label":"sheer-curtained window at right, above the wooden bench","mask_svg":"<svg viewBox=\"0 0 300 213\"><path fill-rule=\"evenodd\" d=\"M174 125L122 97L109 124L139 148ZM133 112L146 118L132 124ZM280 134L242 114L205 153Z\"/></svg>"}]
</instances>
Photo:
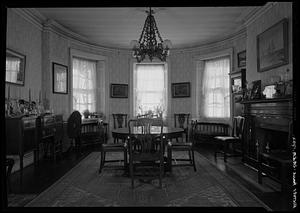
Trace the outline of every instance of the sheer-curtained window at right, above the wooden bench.
<instances>
[{"instance_id":1,"label":"sheer-curtained window at right, above the wooden bench","mask_svg":"<svg viewBox=\"0 0 300 213\"><path fill-rule=\"evenodd\" d=\"M229 57L206 60L202 80L203 116L230 117Z\"/></svg>"}]
</instances>

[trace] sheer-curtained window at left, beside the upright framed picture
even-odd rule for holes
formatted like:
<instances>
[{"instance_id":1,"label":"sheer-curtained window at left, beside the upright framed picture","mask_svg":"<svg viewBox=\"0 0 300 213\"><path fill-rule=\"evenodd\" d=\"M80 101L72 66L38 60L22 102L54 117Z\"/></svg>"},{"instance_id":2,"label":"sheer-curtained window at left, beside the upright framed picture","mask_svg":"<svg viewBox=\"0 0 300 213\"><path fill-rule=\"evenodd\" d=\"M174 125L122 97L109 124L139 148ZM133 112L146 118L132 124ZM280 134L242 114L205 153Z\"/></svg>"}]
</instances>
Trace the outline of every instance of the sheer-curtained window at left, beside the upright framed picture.
<instances>
[{"instance_id":1,"label":"sheer-curtained window at left, beside the upright framed picture","mask_svg":"<svg viewBox=\"0 0 300 213\"><path fill-rule=\"evenodd\" d=\"M73 110L96 110L96 61L73 58Z\"/></svg>"}]
</instances>

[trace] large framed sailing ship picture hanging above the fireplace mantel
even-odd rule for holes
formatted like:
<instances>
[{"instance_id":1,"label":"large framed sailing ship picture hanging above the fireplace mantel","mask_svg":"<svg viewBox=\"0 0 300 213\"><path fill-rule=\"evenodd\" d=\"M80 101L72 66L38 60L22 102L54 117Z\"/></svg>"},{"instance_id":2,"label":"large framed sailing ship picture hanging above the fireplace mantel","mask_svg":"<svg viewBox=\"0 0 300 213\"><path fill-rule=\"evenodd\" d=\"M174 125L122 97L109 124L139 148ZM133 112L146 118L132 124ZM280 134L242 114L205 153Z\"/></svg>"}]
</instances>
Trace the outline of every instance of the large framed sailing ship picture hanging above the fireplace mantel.
<instances>
[{"instance_id":1,"label":"large framed sailing ship picture hanging above the fireplace mantel","mask_svg":"<svg viewBox=\"0 0 300 213\"><path fill-rule=\"evenodd\" d=\"M282 19L257 36L257 71L288 64L288 20Z\"/></svg>"}]
</instances>

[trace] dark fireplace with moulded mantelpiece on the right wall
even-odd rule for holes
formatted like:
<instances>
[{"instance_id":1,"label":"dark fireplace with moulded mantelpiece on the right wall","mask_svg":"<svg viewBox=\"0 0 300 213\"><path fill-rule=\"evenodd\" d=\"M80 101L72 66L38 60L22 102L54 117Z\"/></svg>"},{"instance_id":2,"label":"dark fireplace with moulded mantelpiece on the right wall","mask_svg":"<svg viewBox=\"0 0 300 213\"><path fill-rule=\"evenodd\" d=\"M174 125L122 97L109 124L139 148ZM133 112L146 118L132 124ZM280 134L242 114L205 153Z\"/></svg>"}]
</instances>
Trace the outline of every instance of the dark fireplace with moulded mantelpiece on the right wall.
<instances>
[{"instance_id":1,"label":"dark fireplace with moulded mantelpiece on the right wall","mask_svg":"<svg viewBox=\"0 0 300 213\"><path fill-rule=\"evenodd\" d=\"M257 168L258 153L290 152L291 99L244 101L246 131L243 144L244 162Z\"/></svg>"}]
</instances>

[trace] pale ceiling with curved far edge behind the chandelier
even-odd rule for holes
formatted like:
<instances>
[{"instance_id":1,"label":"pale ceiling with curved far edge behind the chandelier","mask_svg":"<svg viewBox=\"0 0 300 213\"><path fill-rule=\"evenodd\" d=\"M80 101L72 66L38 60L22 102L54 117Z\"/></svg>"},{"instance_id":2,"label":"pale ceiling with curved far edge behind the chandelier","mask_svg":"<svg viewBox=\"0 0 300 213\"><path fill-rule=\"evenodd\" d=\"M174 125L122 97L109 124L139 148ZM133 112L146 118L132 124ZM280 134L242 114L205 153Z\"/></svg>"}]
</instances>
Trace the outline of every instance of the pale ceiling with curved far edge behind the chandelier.
<instances>
[{"instance_id":1,"label":"pale ceiling with curved far edge behind the chandelier","mask_svg":"<svg viewBox=\"0 0 300 213\"><path fill-rule=\"evenodd\" d=\"M154 7L162 39L173 48L217 41L241 29L259 7ZM146 19L145 7L35 8L44 18L105 47L130 48Z\"/></svg>"}]
</instances>

